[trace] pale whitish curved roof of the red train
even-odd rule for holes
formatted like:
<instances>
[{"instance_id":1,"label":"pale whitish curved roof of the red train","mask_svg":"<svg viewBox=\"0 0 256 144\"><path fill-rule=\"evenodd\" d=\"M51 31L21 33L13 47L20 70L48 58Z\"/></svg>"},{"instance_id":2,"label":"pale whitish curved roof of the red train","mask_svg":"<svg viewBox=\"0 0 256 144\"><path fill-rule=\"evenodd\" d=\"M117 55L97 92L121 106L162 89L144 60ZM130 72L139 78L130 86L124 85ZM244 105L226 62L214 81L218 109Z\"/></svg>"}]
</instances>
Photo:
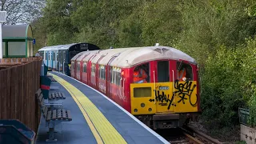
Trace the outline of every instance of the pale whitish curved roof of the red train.
<instances>
[{"instance_id":1,"label":"pale whitish curved roof of the red train","mask_svg":"<svg viewBox=\"0 0 256 144\"><path fill-rule=\"evenodd\" d=\"M131 47L131 48L118 48L99 50L92 59L92 63L98 62L99 58L102 58L98 64L106 65L111 58L114 60L110 63L110 66L117 67L131 67L138 65L142 62L149 62L160 59L177 59L185 60L196 64L194 58L185 54L181 50L174 49L169 46L145 46L145 47ZM86 61L86 58L85 58Z\"/></svg>"}]
</instances>

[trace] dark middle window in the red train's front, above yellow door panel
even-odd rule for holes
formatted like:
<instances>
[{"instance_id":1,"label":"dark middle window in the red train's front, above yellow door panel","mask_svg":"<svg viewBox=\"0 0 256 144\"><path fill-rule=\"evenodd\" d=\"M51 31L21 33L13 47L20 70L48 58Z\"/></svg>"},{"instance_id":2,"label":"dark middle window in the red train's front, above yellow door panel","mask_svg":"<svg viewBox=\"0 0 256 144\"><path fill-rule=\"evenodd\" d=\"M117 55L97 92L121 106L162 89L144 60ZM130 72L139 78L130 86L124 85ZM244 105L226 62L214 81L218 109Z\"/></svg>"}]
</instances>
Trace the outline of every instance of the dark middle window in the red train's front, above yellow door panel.
<instances>
[{"instance_id":1,"label":"dark middle window in the red train's front, above yellow door panel","mask_svg":"<svg viewBox=\"0 0 256 144\"><path fill-rule=\"evenodd\" d=\"M169 61L158 61L158 82L170 82Z\"/></svg>"}]
</instances>

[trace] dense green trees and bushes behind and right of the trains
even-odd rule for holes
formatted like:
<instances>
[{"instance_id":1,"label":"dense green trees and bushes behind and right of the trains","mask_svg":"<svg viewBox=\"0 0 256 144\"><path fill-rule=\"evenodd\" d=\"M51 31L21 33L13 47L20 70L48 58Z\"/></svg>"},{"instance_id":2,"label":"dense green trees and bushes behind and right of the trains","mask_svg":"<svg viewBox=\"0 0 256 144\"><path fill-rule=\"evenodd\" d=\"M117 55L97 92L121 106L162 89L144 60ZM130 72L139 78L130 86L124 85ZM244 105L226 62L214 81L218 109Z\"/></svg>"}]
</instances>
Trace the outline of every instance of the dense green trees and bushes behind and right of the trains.
<instances>
[{"instance_id":1,"label":"dense green trees and bushes behind and right of the trains","mask_svg":"<svg viewBox=\"0 0 256 144\"><path fill-rule=\"evenodd\" d=\"M209 126L238 124L238 107L256 115L254 1L48 0L34 26L42 46L173 46L199 64Z\"/></svg>"}]
</instances>

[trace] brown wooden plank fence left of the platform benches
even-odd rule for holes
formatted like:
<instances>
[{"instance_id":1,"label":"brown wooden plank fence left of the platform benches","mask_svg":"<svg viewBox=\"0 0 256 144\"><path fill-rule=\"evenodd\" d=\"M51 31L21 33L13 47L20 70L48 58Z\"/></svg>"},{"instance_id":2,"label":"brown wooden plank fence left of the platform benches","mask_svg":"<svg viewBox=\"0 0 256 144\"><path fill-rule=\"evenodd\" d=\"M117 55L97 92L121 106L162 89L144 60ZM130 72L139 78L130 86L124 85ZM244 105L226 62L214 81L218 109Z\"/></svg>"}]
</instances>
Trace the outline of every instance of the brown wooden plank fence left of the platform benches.
<instances>
[{"instance_id":1,"label":"brown wooden plank fence left of the platform benches","mask_svg":"<svg viewBox=\"0 0 256 144\"><path fill-rule=\"evenodd\" d=\"M0 119L18 119L35 133L41 115L35 98L40 87L41 65L39 58L0 61Z\"/></svg>"}]
</instances>

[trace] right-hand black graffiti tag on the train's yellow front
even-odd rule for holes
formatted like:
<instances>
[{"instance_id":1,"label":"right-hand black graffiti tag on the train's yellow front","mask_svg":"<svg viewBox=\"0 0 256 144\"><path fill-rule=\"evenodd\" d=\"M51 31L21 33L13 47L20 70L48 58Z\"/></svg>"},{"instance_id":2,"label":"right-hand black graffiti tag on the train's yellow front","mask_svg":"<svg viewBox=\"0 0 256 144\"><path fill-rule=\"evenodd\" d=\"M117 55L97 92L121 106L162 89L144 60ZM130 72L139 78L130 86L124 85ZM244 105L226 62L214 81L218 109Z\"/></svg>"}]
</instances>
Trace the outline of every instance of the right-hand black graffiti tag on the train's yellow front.
<instances>
[{"instance_id":1,"label":"right-hand black graffiti tag on the train's yellow front","mask_svg":"<svg viewBox=\"0 0 256 144\"><path fill-rule=\"evenodd\" d=\"M187 81L185 83L175 81L174 94L175 94L175 96L178 96L178 98L179 98L178 103L182 102L183 104L185 104L185 100L189 99L190 105L196 106L197 102L198 102L197 95L195 95L196 101L191 102L192 93L193 93L194 89L196 88L196 86L197 85L195 85L195 84L192 86L192 82L189 82L189 81Z\"/></svg>"}]
</instances>

